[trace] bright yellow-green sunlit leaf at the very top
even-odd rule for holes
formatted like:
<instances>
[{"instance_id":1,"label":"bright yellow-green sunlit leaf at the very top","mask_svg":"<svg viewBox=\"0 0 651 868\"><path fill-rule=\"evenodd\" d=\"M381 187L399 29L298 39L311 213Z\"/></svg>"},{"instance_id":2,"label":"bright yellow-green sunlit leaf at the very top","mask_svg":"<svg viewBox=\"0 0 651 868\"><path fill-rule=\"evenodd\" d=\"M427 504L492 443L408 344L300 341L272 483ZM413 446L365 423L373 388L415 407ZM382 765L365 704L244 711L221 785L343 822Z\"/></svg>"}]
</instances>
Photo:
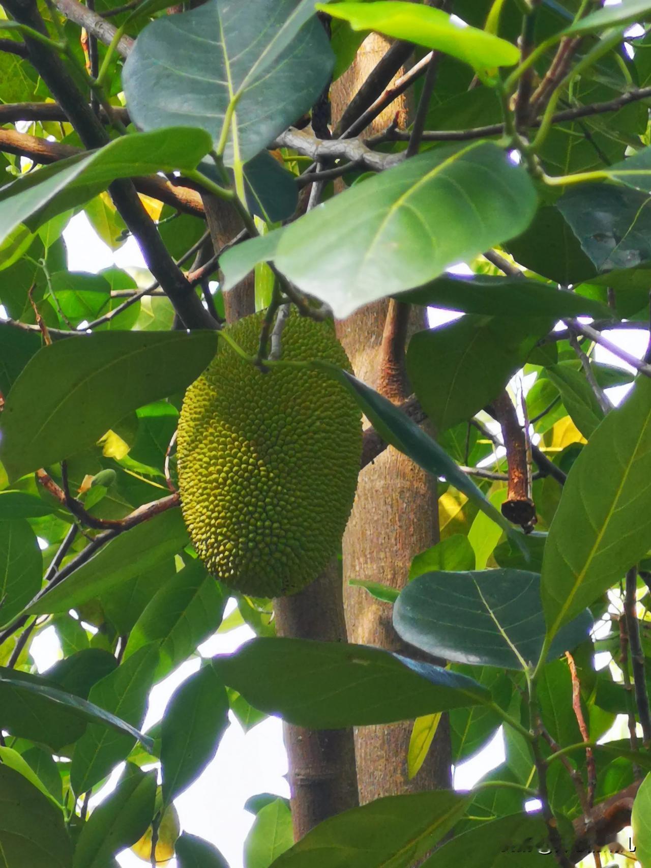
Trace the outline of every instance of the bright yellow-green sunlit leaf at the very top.
<instances>
[{"instance_id":1,"label":"bright yellow-green sunlit leaf at the very top","mask_svg":"<svg viewBox=\"0 0 651 868\"><path fill-rule=\"evenodd\" d=\"M405 6L391 0L377 0L376 3L317 3L316 8L333 18L350 22L353 30L375 30L394 39L443 51L470 63L475 69L513 66L519 60L515 45L485 30L468 27L458 18L451 18L430 6Z\"/></svg>"}]
</instances>

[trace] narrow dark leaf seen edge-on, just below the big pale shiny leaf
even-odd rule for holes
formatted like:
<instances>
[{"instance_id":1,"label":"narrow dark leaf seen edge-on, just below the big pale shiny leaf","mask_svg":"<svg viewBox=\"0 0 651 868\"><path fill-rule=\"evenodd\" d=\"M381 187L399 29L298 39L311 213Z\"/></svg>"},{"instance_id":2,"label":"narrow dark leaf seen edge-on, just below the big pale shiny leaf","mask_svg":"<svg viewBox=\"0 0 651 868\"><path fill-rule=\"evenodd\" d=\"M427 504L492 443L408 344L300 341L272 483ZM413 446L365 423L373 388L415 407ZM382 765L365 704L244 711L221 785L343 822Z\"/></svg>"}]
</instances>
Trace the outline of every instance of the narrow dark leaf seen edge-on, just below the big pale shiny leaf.
<instances>
[{"instance_id":1,"label":"narrow dark leaf seen edge-on, just below the big pale shiny leaf","mask_svg":"<svg viewBox=\"0 0 651 868\"><path fill-rule=\"evenodd\" d=\"M580 314L612 316L612 311L600 302L557 289L540 280L494 277L491 274L474 274L472 277L444 274L427 286L400 293L398 298L412 305L432 305L444 310L514 319L563 319Z\"/></svg>"}]
</instances>

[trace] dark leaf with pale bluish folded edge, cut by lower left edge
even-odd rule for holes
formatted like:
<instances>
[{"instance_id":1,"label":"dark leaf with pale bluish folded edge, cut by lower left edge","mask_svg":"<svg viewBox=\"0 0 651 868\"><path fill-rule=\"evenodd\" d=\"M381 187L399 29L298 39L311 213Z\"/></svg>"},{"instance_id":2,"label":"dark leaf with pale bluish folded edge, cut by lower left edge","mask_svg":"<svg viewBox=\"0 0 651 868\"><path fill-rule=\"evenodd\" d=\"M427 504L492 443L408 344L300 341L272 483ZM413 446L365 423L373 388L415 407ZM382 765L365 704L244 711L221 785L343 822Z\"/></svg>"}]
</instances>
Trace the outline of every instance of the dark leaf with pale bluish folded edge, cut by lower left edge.
<instances>
[{"instance_id":1,"label":"dark leaf with pale bluish folded edge, cut by lower left edge","mask_svg":"<svg viewBox=\"0 0 651 868\"><path fill-rule=\"evenodd\" d=\"M152 746L150 739L125 720L36 675L0 667L0 700L3 728L55 749L79 737L83 731L79 720L112 727L146 748Z\"/></svg>"}]
</instances>

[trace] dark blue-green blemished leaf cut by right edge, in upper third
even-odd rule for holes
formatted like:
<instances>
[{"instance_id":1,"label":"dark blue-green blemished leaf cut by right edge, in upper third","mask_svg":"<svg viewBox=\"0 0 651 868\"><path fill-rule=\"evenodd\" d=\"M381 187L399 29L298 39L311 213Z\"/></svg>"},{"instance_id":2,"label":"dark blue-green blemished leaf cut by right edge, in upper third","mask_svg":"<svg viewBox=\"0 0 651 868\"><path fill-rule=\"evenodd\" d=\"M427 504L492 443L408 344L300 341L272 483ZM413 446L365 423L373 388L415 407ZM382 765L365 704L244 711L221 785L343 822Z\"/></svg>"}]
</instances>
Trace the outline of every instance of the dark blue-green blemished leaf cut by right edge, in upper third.
<instances>
[{"instance_id":1,"label":"dark blue-green blemished leaf cut by right edge, in upper third","mask_svg":"<svg viewBox=\"0 0 651 868\"><path fill-rule=\"evenodd\" d=\"M563 194L556 207L599 271L651 260L648 194L615 184L582 184Z\"/></svg>"}]
</instances>

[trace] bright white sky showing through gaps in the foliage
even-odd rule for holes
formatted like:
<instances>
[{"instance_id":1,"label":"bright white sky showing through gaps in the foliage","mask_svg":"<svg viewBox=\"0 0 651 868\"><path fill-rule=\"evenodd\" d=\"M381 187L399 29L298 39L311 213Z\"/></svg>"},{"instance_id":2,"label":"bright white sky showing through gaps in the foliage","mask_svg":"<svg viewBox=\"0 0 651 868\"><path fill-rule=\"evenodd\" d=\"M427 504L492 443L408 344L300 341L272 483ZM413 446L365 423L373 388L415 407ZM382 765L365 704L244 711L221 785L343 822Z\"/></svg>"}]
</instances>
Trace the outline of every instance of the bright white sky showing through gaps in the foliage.
<instances>
[{"instance_id":1,"label":"bright white sky showing through gaps in the foliage","mask_svg":"<svg viewBox=\"0 0 651 868\"><path fill-rule=\"evenodd\" d=\"M79 214L70 220L64 238L68 246L71 271L98 272L102 268L114 265L125 269L145 267L140 250L133 239L129 239L115 253L112 252L95 234L85 214ZM455 270L463 272L464 267ZM453 319L455 316L456 314L450 312L437 312L431 318L432 325ZM620 334L621 339L626 341L628 352L641 357L646 348L647 332L630 331L620 332ZM602 362L626 366L610 353L603 351L601 347L597 350L596 358ZM623 391L626 391L626 387L623 387ZM609 390L609 392L615 403L619 403L622 390ZM231 608L233 608L233 601L229 603L228 610ZM199 650L203 656L225 654L233 651L251 636L253 633L250 628L240 627L224 635L214 635L204 642ZM31 648L36 666L41 672L61 656L61 648L54 628L46 629L43 634L37 636ZM199 659L187 661L153 689L143 727L145 730L161 719L174 688L195 672L199 665ZM623 733L620 733L621 721L618 721L615 726L617 731L614 737L624 737ZM469 789L491 768L503 762L503 759L503 737L500 730L483 751L455 769L455 787L460 790ZM232 725L227 729L213 762L207 766L201 778L176 799L175 805L182 829L212 841L223 852L231 868L244 868L242 845L253 825L253 816L244 811L244 803L258 792L275 792L281 796L288 796L286 771L286 753L280 720L269 718L245 734L239 723L232 718ZM91 806L115 786L115 777L116 775L98 797L91 801ZM145 865L129 851L123 852L118 857L118 862L123 868L142 868ZM175 859L168 863L168 868L176 868Z\"/></svg>"}]
</instances>

